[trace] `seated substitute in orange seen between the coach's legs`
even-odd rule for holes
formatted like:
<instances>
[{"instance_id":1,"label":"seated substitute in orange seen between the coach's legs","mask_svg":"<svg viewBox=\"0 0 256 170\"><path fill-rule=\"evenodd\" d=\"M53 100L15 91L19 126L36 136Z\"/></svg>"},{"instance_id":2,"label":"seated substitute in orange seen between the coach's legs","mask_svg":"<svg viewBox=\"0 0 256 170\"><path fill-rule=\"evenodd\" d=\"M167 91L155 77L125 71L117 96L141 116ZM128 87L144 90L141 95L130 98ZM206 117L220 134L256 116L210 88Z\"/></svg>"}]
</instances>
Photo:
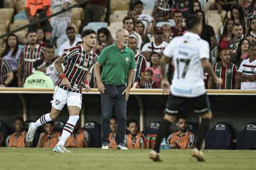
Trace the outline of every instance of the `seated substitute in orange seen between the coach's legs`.
<instances>
[{"instance_id":1,"label":"seated substitute in orange seen between the coach's legs","mask_svg":"<svg viewBox=\"0 0 256 170\"><path fill-rule=\"evenodd\" d=\"M111 116L109 122L110 122L109 124L110 134L108 137L108 140L109 140L108 147L115 149L117 147L117 144L116 144L117 117Z\"/></svg>"}]
</instances>

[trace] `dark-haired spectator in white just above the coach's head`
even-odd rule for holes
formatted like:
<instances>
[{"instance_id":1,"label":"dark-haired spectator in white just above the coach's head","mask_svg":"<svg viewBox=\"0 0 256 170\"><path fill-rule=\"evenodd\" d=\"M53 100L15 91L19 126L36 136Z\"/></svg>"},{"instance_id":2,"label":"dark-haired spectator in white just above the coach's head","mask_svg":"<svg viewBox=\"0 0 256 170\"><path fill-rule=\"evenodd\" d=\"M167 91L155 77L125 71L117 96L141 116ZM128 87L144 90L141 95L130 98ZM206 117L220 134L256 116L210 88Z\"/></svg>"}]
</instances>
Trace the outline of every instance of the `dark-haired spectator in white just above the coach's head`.
<instances>
[{"instance_id":1,"label":"dark-haired spectator in white just above the coach's head","mask_svg":"<svg viewBox=\"0 0 256 170\"><path fill-rule=\"evenodd\" d=\"M137 38L137 50L140 52L141 44L142 44L142 39L139 35L139 33L134 31L134 21L132 18L129 16L125 16L123 19L123 24L124 24L124 29L126 29L129 32L129 35L133 35Z\"/></svg>"}]
</instances>

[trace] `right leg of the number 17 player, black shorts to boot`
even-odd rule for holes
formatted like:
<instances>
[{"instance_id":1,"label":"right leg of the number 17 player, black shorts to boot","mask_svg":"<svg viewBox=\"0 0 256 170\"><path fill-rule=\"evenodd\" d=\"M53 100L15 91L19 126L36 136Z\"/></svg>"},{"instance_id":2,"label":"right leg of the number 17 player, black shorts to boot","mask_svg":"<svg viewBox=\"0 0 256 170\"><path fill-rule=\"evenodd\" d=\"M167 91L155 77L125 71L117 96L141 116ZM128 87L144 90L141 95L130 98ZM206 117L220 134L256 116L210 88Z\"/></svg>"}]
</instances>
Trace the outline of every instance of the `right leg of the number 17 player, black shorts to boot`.
<instances>
[{"instance_id":1,"label":"right leg of the number 17 player, black shorts to boot","mask_svg":"<svg viewBox=\"0 0 256 170\"><path fill-rule=\"evenodd\" d=\"M201 151L202 143L207 131L210 128L210 121L212 112L210 109L209 99L206 94L194 99L194 112L199 114L201 122L196 133L196 146L192 150L192 156L197 158L198 161L205 161L203 152Z\"/></svg>"}]
</instances>

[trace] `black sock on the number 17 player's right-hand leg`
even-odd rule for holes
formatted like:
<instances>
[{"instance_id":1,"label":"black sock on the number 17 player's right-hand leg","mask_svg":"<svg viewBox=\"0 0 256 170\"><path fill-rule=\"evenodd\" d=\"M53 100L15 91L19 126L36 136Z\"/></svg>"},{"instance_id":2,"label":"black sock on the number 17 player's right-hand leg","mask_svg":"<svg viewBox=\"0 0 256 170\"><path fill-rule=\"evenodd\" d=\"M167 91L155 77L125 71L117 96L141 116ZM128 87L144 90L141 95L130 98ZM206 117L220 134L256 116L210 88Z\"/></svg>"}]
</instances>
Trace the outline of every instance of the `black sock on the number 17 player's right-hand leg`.
<instances>
[{"instance_id":1,"label":"black sock on the number 17 player's right-hand leg","mask_svg":"<svg viewBox=\"0 0 256 170\"><path fill-rule=\"evenodd\" d=\"M206 133L209 131L209 128L210 128L210 119L202 118L202 121L196 133L196 148L198 150L201 149L203 140L205 138Z\"/></svg>"}]
</instances>

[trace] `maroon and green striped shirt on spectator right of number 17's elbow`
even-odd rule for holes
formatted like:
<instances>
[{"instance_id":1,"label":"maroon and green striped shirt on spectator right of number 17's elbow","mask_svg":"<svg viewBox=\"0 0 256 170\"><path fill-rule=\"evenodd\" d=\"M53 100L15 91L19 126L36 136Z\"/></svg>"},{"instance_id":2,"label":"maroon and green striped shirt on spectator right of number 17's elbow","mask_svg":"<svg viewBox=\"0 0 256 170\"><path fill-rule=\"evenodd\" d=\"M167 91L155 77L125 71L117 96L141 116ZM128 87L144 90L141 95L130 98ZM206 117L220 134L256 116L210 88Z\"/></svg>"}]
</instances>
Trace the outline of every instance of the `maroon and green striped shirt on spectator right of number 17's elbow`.
<instances>
[{"instance_id":1,"label":"maroon and green striped shirt on spectator right of number 17's elbow","mask_svg":"<svg viewBox=\"0 0 256 170\"><path fill-rule=\"evenodd\" d=\"M217 86L217 89L234 89L237 72L237 66L235 64L229 63L227 67L224 67L221 62L218 62L213 66L213 71L217 77L223 80L222 84Z\"/></svg>"}]
</instances>

